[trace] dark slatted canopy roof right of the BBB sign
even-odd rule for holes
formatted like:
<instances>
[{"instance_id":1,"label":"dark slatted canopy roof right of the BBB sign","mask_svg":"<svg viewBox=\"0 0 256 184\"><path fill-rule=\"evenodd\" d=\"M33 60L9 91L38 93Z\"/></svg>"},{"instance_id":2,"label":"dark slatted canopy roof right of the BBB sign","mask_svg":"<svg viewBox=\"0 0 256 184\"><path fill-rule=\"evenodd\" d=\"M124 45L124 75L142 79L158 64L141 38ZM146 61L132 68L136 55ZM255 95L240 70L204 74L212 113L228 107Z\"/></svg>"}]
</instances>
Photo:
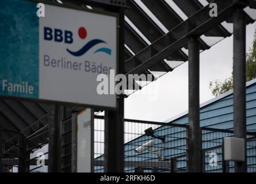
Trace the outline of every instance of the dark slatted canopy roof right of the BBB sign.
<instances>
[{"instance_id":1,"label":"dark slatted canopy roof right of the BBB sign","mask_svg":"<svg viewBox=\"0 0 256 184\"><path fill-rule=\"evenodd\" d=\"M68 0L59 1L68 3ZM85 0L73 2L90 3ZM104 1L102 1L104 2ZM209 3L216 3L217 17L210 17ZM239 5L246 24L256 20L255 1L232 0L127 0L125 9L125 72L162 76L188 60L189 36L198 36L205 51L232 35L232 12ZM94 9L85 5L85 8ZM153 78L152 81L155 81ZM149 80L149 79L147 79ZM137 89L151 81L133 81ZM131 86L128 86L131 87ZM136 89L136 90L137 90ZM127 95L136 90L127 89Z\"/></svg>"}]
</instances>

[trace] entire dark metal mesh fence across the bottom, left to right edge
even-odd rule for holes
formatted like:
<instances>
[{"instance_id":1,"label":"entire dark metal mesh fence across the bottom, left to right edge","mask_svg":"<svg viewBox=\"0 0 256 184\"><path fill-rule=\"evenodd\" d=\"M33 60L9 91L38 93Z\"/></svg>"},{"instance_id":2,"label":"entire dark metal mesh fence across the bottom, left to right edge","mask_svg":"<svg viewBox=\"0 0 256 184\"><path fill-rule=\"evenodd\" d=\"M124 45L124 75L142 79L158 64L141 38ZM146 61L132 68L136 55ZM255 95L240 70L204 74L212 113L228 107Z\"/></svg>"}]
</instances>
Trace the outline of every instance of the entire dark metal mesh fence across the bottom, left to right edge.
<instances>
[{"instance_id":1,"label":"entire dark metal mesh fence across the bottom, left to right edge","mask_svg":"<svg viewBox=\"0 0 256 184\"><path fill-rule=\"evenodd\" d=\"M62 121L60 139L60 171L70 172L72 166L72 143L75 129L72 119ZM74 126L73 126L74 127ZM94 172L104 172L104 117L94 117ZM154 135L144 132L148 128ZM47 135L48 129L39 134ZM188 125L166 124L139 120L124 121L124 171L183 173L188 171ZM223 138L232 137L233 131L201 128L202 168L204 172L234 172L234 162L223 160ZM73 135L74 134L74 135ZM37 136L25 139L21 133L0 130L0 172L48 172L48 144ZM36 141L39 142L39 141ZM144 145L143 144L147 144ZM247 132L247 171L256 172L256 133ZM137 150L137 151L135 151ZM45 163L38 165L39 153ZM212 162L212 159L214 162Z\"/></svg>"}]
</instances>

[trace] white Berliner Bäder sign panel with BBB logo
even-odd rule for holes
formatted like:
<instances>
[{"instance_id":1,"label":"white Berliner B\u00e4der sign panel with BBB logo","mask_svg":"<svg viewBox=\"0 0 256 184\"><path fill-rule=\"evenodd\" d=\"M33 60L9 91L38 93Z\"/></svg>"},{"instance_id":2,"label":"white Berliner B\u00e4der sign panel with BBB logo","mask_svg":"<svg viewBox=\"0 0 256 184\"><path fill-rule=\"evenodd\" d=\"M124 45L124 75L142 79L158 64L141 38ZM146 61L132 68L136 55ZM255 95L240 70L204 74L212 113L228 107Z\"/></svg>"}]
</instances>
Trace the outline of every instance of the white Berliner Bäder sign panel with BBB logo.
<instances>
[{"instance_id":1,"label":"white Berliner B\u00e4der sign panel with BBB logo","mask_svg":"<svg viewBox=\"0 0 256 184\"><path fill-rule=\"evenodd\" d=\"M117 17L45 5L39 18L39 98L116 108L97 76L117 69Z\"/></svg>"}]
</instances>

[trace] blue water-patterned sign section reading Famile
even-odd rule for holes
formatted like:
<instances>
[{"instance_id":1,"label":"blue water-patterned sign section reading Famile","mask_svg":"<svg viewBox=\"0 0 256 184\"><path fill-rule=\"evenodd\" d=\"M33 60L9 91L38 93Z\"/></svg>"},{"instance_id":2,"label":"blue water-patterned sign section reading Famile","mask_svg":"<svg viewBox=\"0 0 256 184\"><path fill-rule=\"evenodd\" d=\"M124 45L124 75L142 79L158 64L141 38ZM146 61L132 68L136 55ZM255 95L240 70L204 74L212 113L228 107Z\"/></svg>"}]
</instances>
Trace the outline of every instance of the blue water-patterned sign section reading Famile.
<instances>
[{"instance_id":1,"label":"blue water-patterned sign section reading Famile","mask_svg":"<svg viewBox=\"0 0 256 184\"><path fill-rule=\"evenodd\" d=\"M35 2L0 1L0 95L39 98L39 18Z\"/></svg>"}]
</instances>

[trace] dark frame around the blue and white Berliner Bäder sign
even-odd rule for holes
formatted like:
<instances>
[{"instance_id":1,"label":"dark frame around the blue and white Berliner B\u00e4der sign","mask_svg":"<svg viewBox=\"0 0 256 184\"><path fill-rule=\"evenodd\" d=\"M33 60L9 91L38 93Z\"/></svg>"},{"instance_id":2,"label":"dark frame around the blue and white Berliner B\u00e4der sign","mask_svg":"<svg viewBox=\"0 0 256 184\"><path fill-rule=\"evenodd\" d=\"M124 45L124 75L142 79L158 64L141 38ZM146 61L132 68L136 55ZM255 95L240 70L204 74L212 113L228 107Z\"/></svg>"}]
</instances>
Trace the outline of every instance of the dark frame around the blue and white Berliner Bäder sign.
<instances>
[{"instance_id":1,"label":"dark frame around the blue and white Berliner B\u00e4der sign","mask_svg":"<svg viewBox=\"0 0 256 184\"><path fill-rule=\"evenodd\" d=\"M113 12L113 11L104 11L104 10L91 10L91 9L86 9L86 7L77 6L77 5L71 5L71 4L61 4L58 2L49 2L46 0L22 0L22 1L28 1L28 2L35 2L35 3L44 3L46 5L52 5L52 6L57 6L57 7L64 7L67 9L73 9L73 10L81 10L81 11L86 11L90 13L96 13L96 14L102 14L105 16L113 16L116 17L116 74L119 74L120 71L120 15L119 13ZM36 10L36 6L35 6ZM35 14L36 16L36 14ZM97 81L95 81L97 82ZM115 82L116 85L116 82ZM97 93L97 91L95 91ZM72 105L72 106L81 106L84 108L93 108L93 109L102 109L102 110L119 110L119 95L116 95L116 107L109 107L109 106L101 106L101 105L90 105L90 104L79 104L79 103L74 103L74 102L64 102L64 101L54 101L54 100L49 100L49 99L39 99L39 98L28 98L28 97L15 97L15 96L10 96L10 95L3 95L0 94L1 98L6 98L6 99L14 99L14 100L20 100L20 101L29 101L29 102L39 102L39 103L45 103L45 104L55 104L55 105Z\"/></svg>"}]
</instances>

